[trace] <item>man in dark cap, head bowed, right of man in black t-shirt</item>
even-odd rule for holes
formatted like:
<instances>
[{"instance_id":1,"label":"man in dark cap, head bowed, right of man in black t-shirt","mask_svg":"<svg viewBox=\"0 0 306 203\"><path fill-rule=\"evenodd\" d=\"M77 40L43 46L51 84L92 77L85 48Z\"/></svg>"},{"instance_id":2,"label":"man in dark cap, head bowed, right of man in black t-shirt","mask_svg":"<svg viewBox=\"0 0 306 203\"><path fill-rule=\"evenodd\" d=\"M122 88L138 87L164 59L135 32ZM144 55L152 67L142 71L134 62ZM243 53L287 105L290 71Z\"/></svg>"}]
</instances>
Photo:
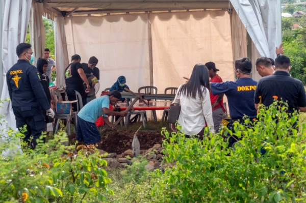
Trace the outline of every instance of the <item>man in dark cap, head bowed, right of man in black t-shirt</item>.
<instances>
[{"instance_id":1,"label":"man in dark cap, head bowed, right of man in black t-shirt","mask_svg":"<svg viewBox=\"0 0 306 203\"><path fill-rule=\"evenodd\" d=\"M98 59L95 56L91 56L89 58L88 64L82 63L82 66L83 66L84 73L91 74L91 75L95 76L97 78L97 80L99 80L100 79L100 71L96 67L97 64L98 64ZM95 92L94 87L91 86L90 88L92 90L91 90L91 93L89 95L93 95L94 92ZM87 103L90 102L91 100L95 99L95 98L96 98L95 95L87 98Z\"/></svg>"}]
</instances>

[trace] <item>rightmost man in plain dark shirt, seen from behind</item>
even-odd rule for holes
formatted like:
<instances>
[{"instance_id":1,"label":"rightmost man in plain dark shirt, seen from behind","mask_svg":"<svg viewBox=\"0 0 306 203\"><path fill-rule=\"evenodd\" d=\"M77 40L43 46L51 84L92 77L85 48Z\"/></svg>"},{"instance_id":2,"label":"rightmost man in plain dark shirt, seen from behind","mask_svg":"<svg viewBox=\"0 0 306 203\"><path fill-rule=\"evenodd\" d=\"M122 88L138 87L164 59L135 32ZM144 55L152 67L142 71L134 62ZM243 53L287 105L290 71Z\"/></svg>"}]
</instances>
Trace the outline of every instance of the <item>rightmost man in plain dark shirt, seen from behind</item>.
<instances>
[{"instance_id":1,"label":"rightmost man in plain dark shirt, seen from behind","mask_svg":"<svg viewBox=\"0 0 306 203\"><path fill-rule=\"evenodd\" d=\"M303 83L290 77L290 59L286 55L277 56L275 59L275 73L261 78L258 81L254 95L255 107L260 101L265 106L270 106L274 99L287 101L288 112L294 110L306 112L306 95Z\"/></svg>"}]
</instances>

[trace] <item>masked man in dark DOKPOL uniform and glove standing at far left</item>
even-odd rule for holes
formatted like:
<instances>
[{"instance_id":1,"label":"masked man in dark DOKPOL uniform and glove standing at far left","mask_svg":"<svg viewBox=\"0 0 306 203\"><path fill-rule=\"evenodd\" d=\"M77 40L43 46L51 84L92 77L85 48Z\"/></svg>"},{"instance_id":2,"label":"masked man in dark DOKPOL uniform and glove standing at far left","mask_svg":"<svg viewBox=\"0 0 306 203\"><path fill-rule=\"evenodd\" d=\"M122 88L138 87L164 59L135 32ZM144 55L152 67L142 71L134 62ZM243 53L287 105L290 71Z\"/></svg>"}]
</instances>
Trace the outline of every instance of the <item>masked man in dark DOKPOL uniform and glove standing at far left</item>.
<instances>
[{"instance_id":1,"label":"masked man in dark DOKPOL uniform and glove standing at far left","mask_svg":"<svg viewBox=\"0 0 306 203\"><path fill-rule=\"evenodd\" d=\"M45 129L45 117L41 108L52 118L54 112L44 94L39 72L30 64L33 53L31 44L19 44L16 53L19 60L7 73L7 85L16 117L16 126L20 130L27 125L23 140L34 149L37 139ZM33 140L30 142L31 135Z\"/></svg>"}]
</instances>

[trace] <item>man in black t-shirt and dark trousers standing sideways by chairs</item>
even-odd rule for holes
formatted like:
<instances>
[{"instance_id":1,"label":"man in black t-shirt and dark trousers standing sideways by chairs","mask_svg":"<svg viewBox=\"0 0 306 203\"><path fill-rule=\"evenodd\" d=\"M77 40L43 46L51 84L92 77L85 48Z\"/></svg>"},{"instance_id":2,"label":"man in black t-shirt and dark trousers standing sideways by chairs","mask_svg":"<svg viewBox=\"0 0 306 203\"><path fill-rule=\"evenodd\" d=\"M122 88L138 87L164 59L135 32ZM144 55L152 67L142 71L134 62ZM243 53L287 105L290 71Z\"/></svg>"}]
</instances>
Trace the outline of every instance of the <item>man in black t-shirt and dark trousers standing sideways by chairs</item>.
<instances>
[{"instance_id":1,"label":"man in black t-shirt and dark trousers standing sideways by chairs","mask_svg":"<svg viewBox=\"0 0 306 203\"><path fill-rule=\"evenodd\" d=\"M90 86L84 73L81 62L81 56L75 54L71 57L71 64L65 69L66 93L69 101L77 100L75 91L78 91L82 96L83 106L86 104L87 94L90 91ZM84 89L86 83L87 89ZM85 92L86 91L86 92ZM77 104L72 104L74 111L77 110Z\"/></svg>"}]
</instances>

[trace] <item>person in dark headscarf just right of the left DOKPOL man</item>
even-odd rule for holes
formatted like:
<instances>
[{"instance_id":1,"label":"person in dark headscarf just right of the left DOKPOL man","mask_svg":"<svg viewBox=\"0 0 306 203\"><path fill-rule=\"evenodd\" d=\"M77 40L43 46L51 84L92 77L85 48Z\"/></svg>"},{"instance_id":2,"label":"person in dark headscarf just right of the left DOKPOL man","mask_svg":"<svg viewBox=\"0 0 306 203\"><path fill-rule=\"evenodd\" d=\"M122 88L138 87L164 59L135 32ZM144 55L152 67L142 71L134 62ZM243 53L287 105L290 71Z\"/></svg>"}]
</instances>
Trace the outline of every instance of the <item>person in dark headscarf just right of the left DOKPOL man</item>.
<instances>
[{"instance_id":1,"label":"person in dark headscarf just right of the left DOKPOL man","mask_svg":"<svg viewBox=\"0 0 306 203\"><path fill-rule=\"evenodd\" d=\"M47 71L47 67L48 67L48 62L44 59L39 58L37 60L37 64L36 67L39 71L39 75L40 75L40 82L42 84L43 90L44 90L44 94L46 94L47 99L49 104L51 103L51 95L50 95L50 91L49 91L49 78L48 76L45 74ZM46 123L50 123L48 116L46 114L46 111L42 110L42 113L45 117L45 122Z\"/></svg>"}]
</instances>

